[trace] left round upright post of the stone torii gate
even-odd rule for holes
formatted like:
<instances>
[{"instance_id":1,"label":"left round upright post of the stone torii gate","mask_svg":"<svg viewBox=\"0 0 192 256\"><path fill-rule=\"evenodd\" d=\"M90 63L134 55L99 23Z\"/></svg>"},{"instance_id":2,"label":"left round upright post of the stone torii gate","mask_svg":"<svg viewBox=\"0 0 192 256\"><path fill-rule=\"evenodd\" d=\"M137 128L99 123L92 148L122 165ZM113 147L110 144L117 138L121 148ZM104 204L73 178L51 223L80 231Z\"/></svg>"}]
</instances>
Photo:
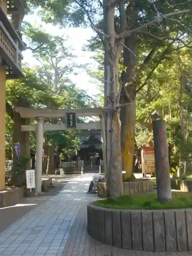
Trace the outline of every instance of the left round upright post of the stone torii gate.
<instances>
[{"instance_id":1,"label":"left round upright post of the stone torii gate","mask_svg":"<svg viewBox=\"0 0 192 256\"><path fill-rule=\"evenodd\" d=\"M37 118L35 193L41 193L42 156L44 146L44 118Z\"/></svg>"}]
</instances>

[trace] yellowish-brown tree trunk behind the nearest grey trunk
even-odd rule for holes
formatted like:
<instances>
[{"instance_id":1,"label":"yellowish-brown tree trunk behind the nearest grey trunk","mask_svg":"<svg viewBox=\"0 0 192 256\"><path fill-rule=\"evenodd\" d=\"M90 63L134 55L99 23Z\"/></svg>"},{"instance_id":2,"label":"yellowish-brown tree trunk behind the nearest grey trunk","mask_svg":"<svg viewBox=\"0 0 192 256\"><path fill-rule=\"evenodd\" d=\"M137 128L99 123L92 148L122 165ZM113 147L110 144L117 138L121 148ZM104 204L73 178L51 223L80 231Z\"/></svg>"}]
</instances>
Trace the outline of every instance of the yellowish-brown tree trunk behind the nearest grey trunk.
<instances>
[{"instance_id":1,"label":"yellowish-brown tree trunk behind the nearest grey trunk","mask_svg":"<svg viewBox=\"0 0 192 256\"><path fill-rule=\"evenodd\" d=\"M130 20L134 18L137 12L130 6L126 9L127 29L133 24ZM126 70L121 73L123 90L121 91L121 154L122 169L125 170L125 180L133 175L133 155L135 150L135 122L136 122L136 84L134 80L134 69L137 64L137 34L133 33L124 40L123 48L123 66Z\"/></svg>"}]
</instances>

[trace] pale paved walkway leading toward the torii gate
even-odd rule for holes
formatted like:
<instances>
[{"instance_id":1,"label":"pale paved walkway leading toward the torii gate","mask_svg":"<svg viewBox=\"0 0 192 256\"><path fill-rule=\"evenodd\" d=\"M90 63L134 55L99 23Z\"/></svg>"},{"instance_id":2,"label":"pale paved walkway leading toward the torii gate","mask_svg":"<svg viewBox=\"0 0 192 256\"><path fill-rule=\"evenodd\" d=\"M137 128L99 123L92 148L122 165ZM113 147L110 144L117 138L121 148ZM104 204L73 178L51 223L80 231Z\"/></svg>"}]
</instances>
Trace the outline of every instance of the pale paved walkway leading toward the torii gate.
<instances>
[{"instance_id":1,"label":"pale paved walkway leading toward the torii gate","mask_svg":"<svg viewBox=\"0 0 192 256\"><path fill-rule=\"evenodd\" d=\"M86 191L92 175L71 180L60 193L0 233L0 255L15 256L188 256L192 252L152 253L104 245L87 234ZM0 220L3 221L3 220Z\"/></svg>"}]
</instances>

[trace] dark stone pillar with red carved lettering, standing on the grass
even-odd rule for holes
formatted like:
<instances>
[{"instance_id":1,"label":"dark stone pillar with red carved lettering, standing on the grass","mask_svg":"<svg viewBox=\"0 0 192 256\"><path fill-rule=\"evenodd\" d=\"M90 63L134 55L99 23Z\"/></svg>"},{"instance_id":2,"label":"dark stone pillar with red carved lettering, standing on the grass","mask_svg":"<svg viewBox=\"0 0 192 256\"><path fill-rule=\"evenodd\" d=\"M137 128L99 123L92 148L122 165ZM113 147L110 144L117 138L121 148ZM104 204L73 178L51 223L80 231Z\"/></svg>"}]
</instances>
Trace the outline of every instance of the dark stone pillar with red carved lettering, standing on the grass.
<instances>
[{"instance_id":1,"label":"dark stone pillar with red carved lettering, standing on the grass","mask_svg":"<svg viewBox=\"0 0 192 256\"><path fill-rule=\"evenodd\" d=\"M164 120L153 121L155 167L157 179L157 199L160 203L172 199L166 123Z\"/></svg>"}]
</instances>

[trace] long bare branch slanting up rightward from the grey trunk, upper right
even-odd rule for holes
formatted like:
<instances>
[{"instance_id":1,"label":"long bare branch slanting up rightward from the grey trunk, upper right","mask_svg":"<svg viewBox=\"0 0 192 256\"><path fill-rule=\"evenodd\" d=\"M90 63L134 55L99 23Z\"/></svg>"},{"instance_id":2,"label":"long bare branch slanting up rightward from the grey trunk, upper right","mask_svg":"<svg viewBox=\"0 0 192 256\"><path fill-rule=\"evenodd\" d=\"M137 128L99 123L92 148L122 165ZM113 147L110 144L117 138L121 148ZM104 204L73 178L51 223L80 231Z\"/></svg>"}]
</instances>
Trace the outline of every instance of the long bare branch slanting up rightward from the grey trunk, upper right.
<instances>
[{"instance_id":1,"label":"long bare branch slanting up rightward from the grey trunk, upper right","mask_svg":"<svg viewBox=\"0 0 192 256\"><path fill-rule=\"evenodd\" d=\"M151 25L153 25L154 23L158 23L158 22L160 22L162 19L165 19L165 18L168 18L168 17L172 17L172 16L174 16L174 15L178 15L178 14L182 14L182 13L187 13L187 12L189 12L189 9L183 10L183 11L170 12L170 13L164 14L164 15L161 16L161 17L157 17L157 18L151 20L151 22L144 23L143 25L141 25L141 26L139 26L139 27L137 27L137 28L135 28L135 29L131 29L131 30L124 31L124 32L122 32L122 33L120 33L119 35L116 35L116 36L117 36L119 39L124 38L124 37L126 37L126 36L131 35L132 33L135 33L135 32L138 32L138 31L142 30L143 28L146 28L146 27L148 27L148 26L151 26Z\"/></svg>"}]
</instances>

